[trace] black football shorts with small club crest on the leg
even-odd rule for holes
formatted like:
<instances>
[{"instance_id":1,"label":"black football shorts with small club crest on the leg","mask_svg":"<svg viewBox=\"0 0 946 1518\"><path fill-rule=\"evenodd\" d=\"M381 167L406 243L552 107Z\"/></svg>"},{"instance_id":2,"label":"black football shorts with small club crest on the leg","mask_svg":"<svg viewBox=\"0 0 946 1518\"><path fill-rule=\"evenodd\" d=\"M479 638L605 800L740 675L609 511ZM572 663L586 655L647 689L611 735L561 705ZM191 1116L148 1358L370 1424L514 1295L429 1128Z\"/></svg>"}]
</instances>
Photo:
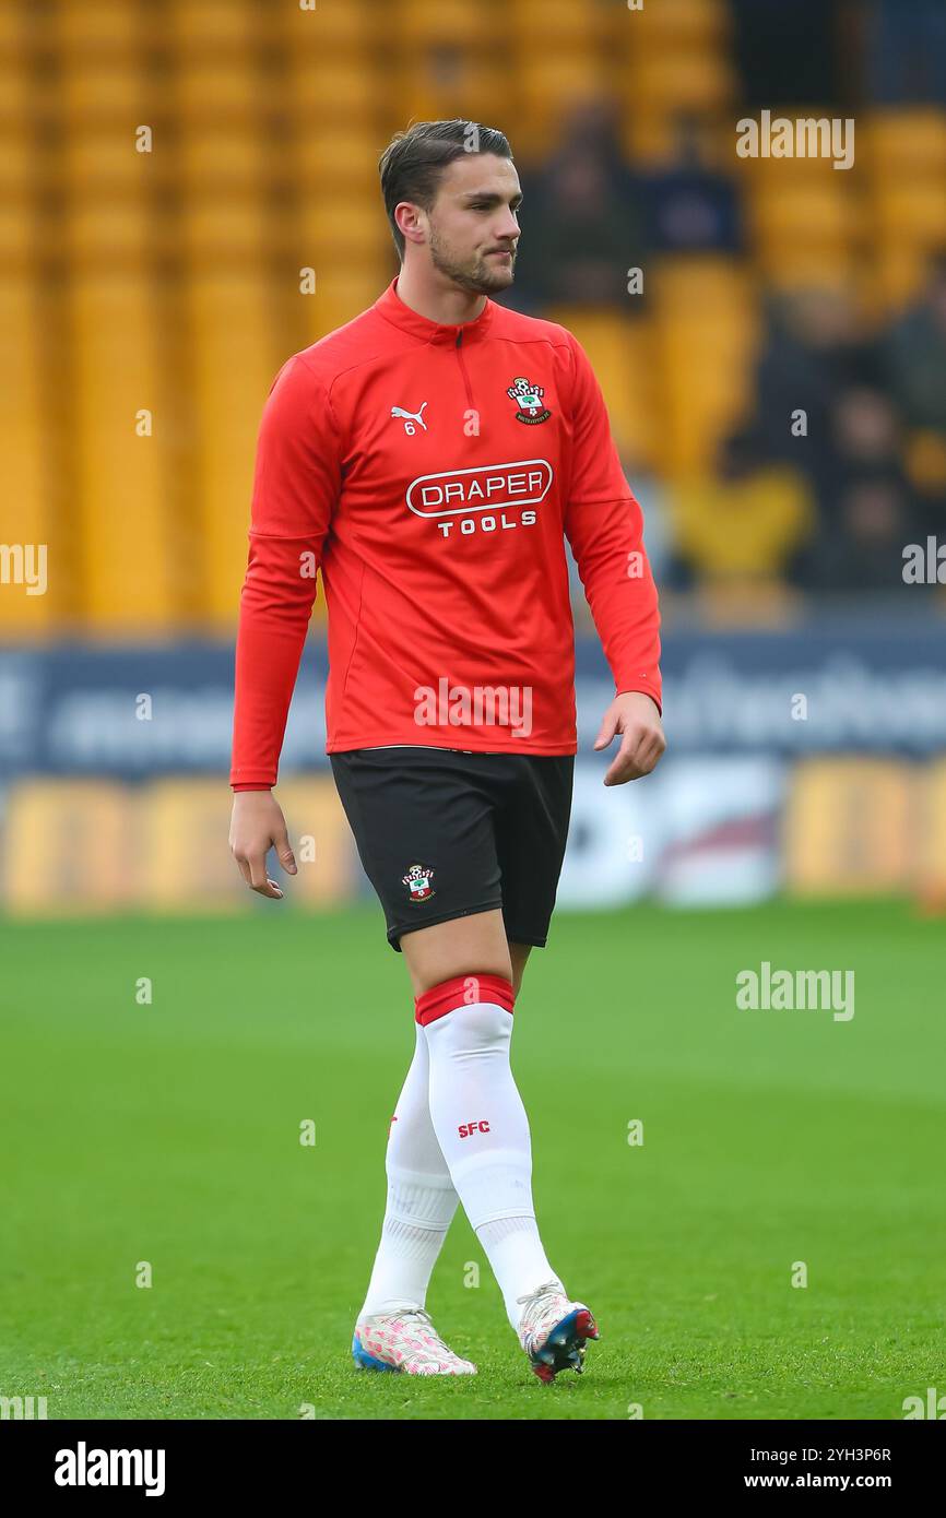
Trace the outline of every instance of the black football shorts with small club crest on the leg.
<instances>
[{"instance_id":1,"label":"black football shorts with small club crest on the leg","mask_svg":"<svg viewBox=\"0 0 946 1518\"><path fill-rule=\"evenodd\" d=\"M545 947L574 754L351 748L330 754L387 941L500 906L510 943Z\"/></svg>"}]
</instances>

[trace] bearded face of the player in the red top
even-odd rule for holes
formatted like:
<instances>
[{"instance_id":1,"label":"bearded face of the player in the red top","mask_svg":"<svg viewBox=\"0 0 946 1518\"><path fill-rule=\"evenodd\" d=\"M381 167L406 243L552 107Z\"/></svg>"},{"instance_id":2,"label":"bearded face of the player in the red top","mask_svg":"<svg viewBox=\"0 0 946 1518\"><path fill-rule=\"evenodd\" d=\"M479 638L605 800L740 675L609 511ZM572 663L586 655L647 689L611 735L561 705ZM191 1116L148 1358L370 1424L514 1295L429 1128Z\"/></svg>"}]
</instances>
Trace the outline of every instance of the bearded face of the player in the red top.
<instances>
[{"instance_id":1,"label":"bearded face of the player in the red top","mask_svg":"<svg viewBox=\"0 0 946 1518\"><path fill-rule=\"evenodd\" d=\"M506 290L515 278L521 202L509 158L463 153L454 159L427 216L434 269L477 294Z\"/></svg>"}]
</instances>

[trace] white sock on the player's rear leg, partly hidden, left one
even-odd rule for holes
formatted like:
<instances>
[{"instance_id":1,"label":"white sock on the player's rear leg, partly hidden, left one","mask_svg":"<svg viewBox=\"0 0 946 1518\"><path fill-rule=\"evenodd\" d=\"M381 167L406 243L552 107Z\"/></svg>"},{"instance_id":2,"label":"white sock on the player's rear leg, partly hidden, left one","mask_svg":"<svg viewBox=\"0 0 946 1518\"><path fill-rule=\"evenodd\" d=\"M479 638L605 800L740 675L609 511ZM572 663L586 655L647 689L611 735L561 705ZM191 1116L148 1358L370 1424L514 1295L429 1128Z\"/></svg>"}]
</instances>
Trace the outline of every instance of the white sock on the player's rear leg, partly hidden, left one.
<instances>
[{"instance_id":1,"label":"white sock on the player's rear leg, partly hidden, left one","mask_svg":"<svg viewBox=\"0 0 946 1518\"><path fill-rule=\"evenodd\" d=\"M387 1135L387 1207L358 1316L424 1307L459 1196L430 1120L430 1057L418 1025L415 1057Z\"/></svg>"}]
</instances>

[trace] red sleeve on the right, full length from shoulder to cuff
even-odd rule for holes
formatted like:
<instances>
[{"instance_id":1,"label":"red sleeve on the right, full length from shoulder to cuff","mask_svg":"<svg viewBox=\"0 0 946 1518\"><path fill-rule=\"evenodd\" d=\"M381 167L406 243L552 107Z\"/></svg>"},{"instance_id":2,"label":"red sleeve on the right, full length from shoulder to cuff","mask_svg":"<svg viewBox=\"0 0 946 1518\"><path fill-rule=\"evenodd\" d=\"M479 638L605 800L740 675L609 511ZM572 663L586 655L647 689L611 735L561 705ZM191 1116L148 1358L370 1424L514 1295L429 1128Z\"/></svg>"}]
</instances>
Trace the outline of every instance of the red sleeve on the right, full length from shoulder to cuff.
<instances>
[{"instance_id":1,"label":"red sleeve on the right, full length from shoulder to cuff","mask_svg":"<svg viewBox=\"0 0 946 1518\"><path fill-rule=\"evenodd\" d=\"M572 466L565 509L571 543L615 694L661 706L661 613L644 548L644 518L610 436L601 387L572 337Z\"/></svg>"}]
</instances>

